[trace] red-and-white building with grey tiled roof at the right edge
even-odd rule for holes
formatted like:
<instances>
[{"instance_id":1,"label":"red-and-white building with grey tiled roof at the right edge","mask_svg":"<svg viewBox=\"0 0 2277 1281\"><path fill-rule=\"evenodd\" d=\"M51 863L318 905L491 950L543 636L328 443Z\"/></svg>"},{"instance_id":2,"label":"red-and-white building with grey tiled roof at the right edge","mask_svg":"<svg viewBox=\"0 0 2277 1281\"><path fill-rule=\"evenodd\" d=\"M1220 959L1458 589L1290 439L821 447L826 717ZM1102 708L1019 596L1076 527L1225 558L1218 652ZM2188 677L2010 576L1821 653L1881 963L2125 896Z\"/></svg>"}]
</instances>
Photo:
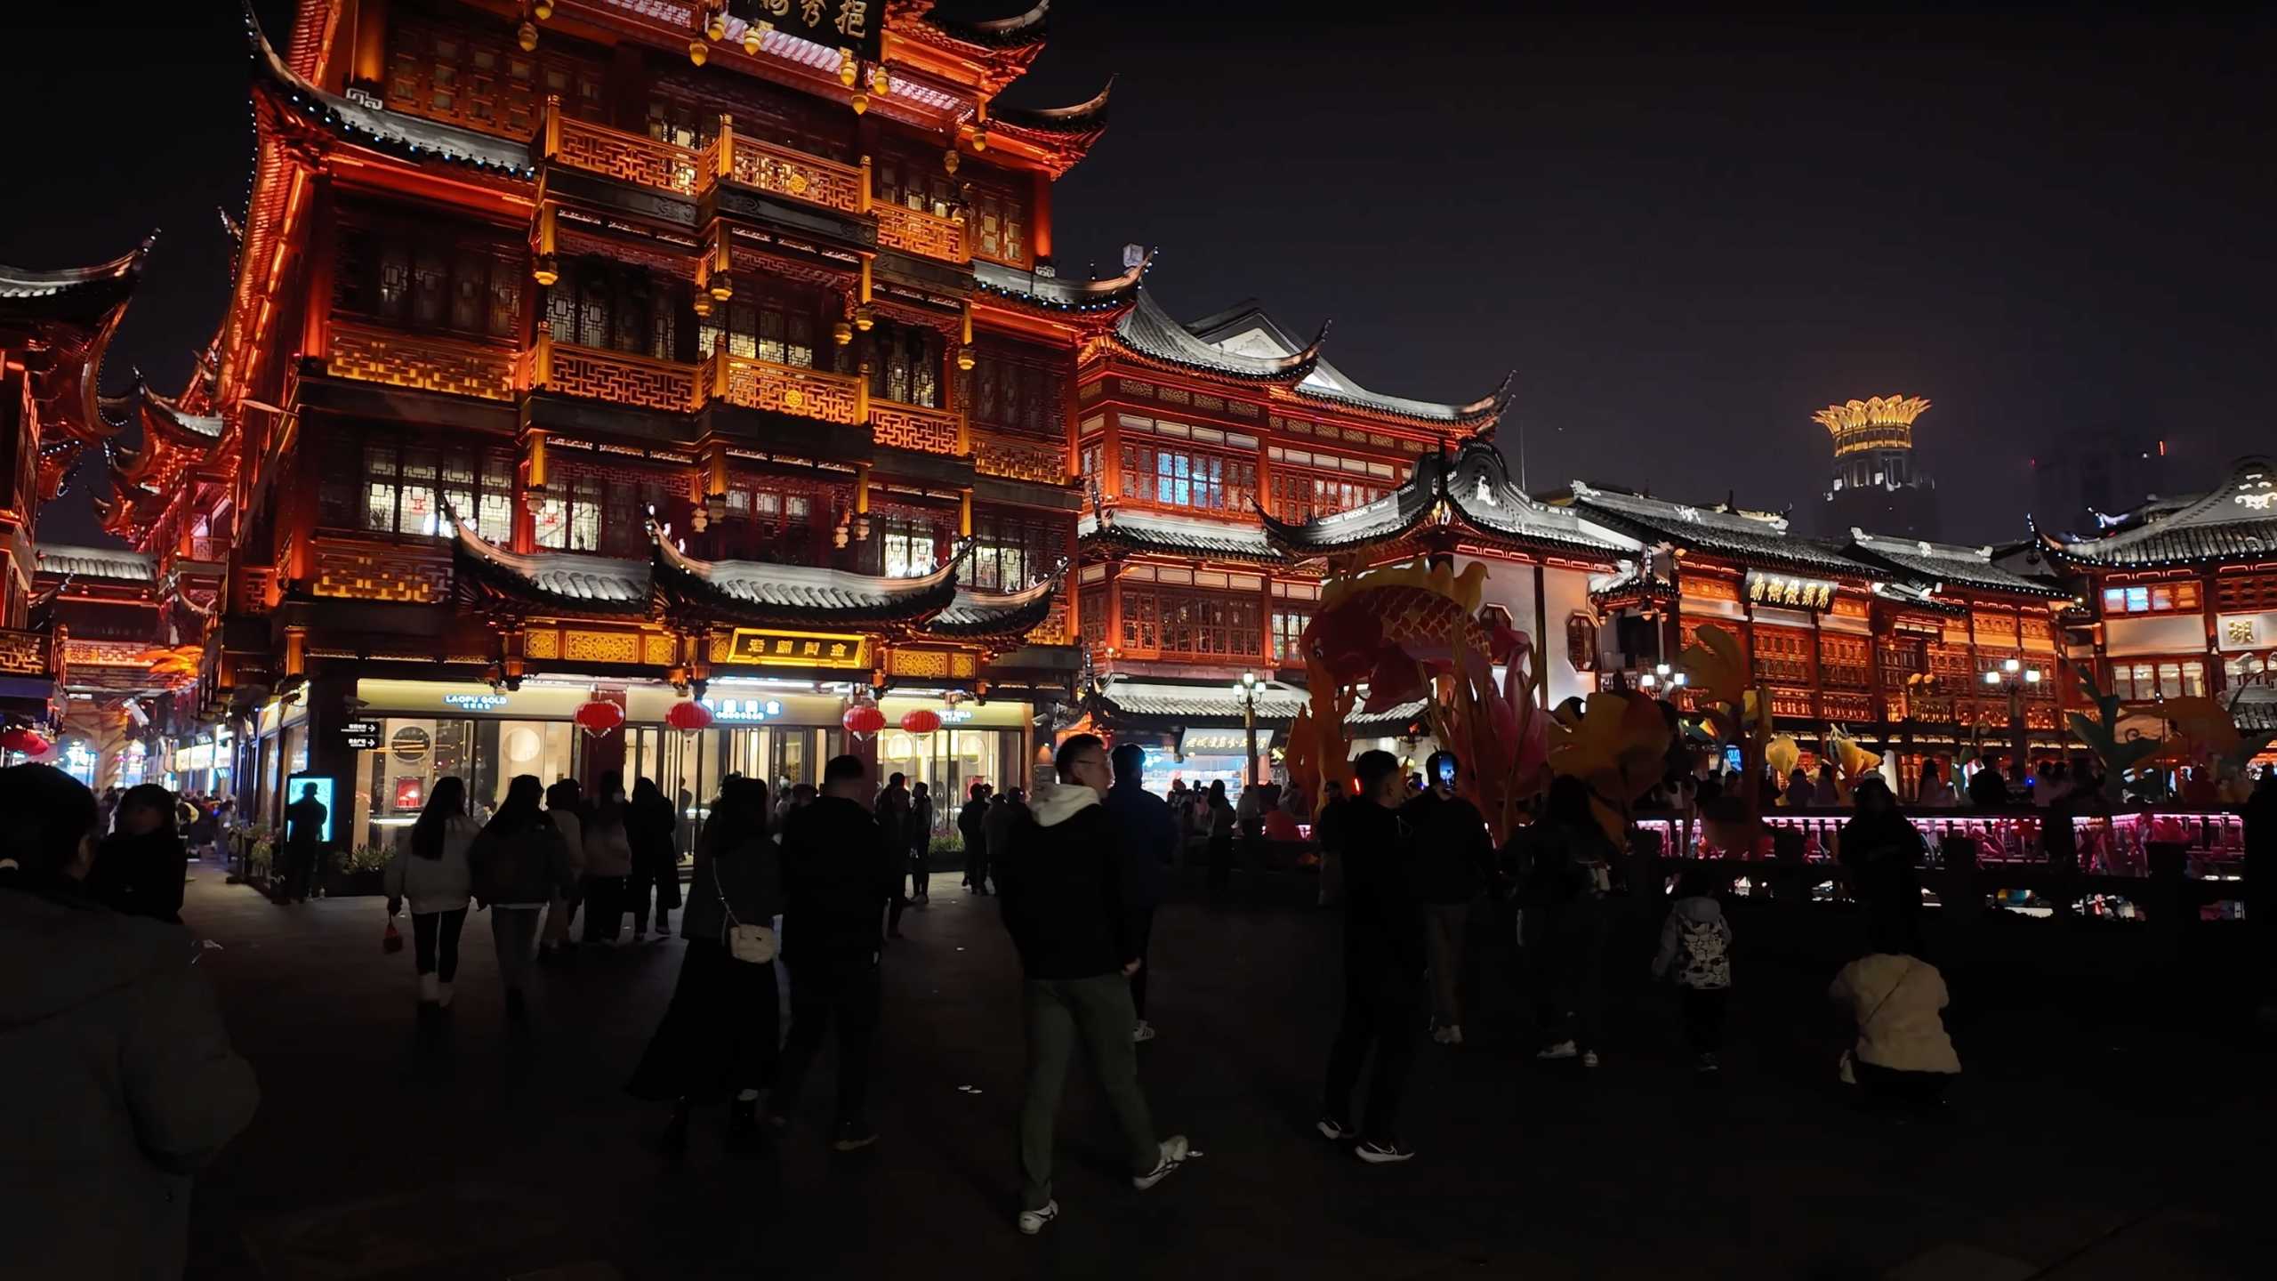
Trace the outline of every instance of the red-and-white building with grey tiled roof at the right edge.
<instances>
[{"instance_id":1,"label":"red-and-white building with grey tiled roof at the right edge","mask_svg":"<svg viewBox=\"0 0 2277 1281\"><path fill-rule=\"evenodd\" d=\"M2202 495L2093 538L2040 533L2031 552L2083 581L2074 640L2106 693L2143 709L2218 693L2243 725L2277 729L2277 460L2238 458Z\"/></svg>"}]
</instances>

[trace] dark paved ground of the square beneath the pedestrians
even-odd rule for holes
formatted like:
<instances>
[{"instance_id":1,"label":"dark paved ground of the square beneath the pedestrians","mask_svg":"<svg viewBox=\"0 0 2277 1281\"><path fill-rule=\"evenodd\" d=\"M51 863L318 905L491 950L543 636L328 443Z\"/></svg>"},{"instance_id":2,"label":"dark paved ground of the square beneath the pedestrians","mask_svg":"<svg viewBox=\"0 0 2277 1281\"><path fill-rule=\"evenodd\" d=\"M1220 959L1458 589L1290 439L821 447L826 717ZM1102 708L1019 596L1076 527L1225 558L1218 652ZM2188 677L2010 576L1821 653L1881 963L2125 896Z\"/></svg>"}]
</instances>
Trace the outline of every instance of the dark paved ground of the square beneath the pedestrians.
<instances>
[{"instance_id":1,"label":"dark paved ground of the square beneath the pedestrians","mask_svg":"<svg viewBox=\"0 0 2277 1281\"><path fill-rule=\"evenodd\" d=\"M1334 925L1305 907L1168 907L1141 1071L1202 1151L1120 1178L1086 1080L1061 1121L1063 1217L1020 1238L1016 964L988 900L936 878L886 962L883 1142L838 1156L817 1071L776 1151L729 1158L708 1117L681 1165L622 1094L681 944L549 971L535 1030L501 1019L487 919L442 1030L412 1014L380 900L276 907L207 873L184 916L264 1103L198 1188L194 1276L1758 1276L2015 1281L2266 1276L2250 1201L2277 1051L2106 980L2058 1001L1988 978L1956 1010L1947 1124L1890 1126L1828 1083L1824 941L1737 914L1735 1049L1696 1087L1658 998L1624 992L1608 1064L1544 1069L1478 948L1473 1044L1423 1046L1421 1158L1375 1169L1312 1135ZM1808 930L1801 930L1808 932ZM1630 939L1630 948L1642 946ZM1637 960L1635 964L1642 964ZM1956 982L1958 987L1958 982ZM2038 992L2038 989L2036 989ZM977 1094L959 1087L977 1087Z\"/></svg>"}]
</instances>

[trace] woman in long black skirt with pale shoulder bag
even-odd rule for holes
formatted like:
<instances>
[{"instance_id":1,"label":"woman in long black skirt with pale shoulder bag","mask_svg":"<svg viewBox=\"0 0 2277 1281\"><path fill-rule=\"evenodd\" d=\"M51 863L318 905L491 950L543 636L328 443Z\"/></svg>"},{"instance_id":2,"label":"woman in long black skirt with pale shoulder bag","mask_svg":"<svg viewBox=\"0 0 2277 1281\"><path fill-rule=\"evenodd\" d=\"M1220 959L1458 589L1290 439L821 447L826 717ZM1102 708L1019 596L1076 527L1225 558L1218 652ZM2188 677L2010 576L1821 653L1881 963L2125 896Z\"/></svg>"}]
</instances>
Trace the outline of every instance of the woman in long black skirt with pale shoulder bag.
<instances>
[{"instance_id":1,"label":"woman in long black skirt with pale shoulder bag","mask_svg":"<svg viewBox=\"0 0 2277 1281\"><path fill-rule=\"evenodd\" d=\"M726 1103L729 1151L758 1147L758 1092L774 1076L779 1019L774 916L781 855L767 839L767 784L731 780L697 841L681 937L688 955L672 1005L626 1090L672 1103L660 1149L688 1151L688 1110Z\"/></svg>"}]
</instances>

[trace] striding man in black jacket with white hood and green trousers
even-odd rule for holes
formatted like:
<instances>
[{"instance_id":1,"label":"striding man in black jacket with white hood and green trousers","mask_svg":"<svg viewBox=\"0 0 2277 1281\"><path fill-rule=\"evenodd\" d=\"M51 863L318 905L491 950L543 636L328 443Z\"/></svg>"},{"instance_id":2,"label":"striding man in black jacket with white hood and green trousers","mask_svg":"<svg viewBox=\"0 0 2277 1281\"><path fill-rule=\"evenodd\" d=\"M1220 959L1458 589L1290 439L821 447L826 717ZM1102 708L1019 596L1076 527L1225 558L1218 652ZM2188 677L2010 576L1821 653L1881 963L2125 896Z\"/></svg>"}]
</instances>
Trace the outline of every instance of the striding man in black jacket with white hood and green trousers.
<instances>
[{"instance_id":1,"label":"striding man in black jacket with white hood and green trousers","mask_svg":"<svg viewBox=\"0 0 2277 1281\"><path fill-rule=\"evenodd\" d=\"M1129 978L1138 912L1127 903L1123 846L1100 800L1113 784L1107 745L1077 734L1059 748L1059 786L1018 823L997 864L1004 928L1020 953L1027 1014L1027 1099L1020 1105L1020 1231L1059 1217L1052 1199L1052 1121L1075 1042L1084 1042L1100 1092L1123 1126L1132 1185L1141 1192L1186 1160L1186 1135L1154 1142L1138 1090Z\"/></svg>"}]
</instances>

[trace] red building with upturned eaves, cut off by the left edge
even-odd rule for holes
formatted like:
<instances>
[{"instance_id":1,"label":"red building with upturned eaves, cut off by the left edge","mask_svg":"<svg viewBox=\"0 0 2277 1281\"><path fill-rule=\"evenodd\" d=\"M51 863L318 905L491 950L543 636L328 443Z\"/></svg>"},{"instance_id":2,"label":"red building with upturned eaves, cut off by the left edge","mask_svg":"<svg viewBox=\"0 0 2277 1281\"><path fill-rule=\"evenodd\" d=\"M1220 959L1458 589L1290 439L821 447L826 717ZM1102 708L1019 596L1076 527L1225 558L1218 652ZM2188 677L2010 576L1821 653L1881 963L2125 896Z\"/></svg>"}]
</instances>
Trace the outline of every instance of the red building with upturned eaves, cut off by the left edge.
<instances>
[{"instance_id":1,"label":"red building with upturned eaves, cut off by the left edge","mask_svg":"<svg viewBox=\"0 0 2277 1281\"><path fill-rule=\"evenodd\" d=\"M89 447L116 426L102 415L102 351L128 310L148 242L96 267L0 267L0 713L14 725L57 716L61 652L34 618L34 522Z\"/></svg>"}]
</instances>

